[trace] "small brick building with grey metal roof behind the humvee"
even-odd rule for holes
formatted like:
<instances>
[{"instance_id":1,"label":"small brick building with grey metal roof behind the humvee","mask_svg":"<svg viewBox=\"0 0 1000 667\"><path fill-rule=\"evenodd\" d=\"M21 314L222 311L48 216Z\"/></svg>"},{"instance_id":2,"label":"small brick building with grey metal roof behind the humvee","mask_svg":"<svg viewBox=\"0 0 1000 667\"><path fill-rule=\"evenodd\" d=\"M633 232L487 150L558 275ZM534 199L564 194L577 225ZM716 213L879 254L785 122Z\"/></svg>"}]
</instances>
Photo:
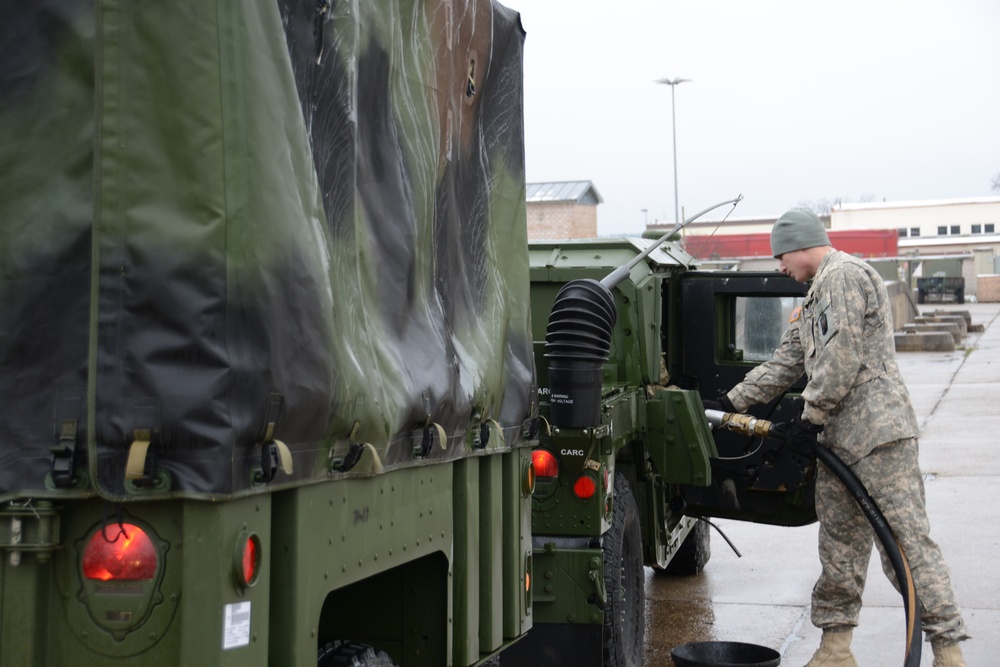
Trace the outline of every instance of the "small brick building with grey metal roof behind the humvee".
<instances>
[{"instance_id":1,"label":"small brick building with grey metal roof behind the humvee","mask_svg":"<svg viewBox=\"0 0 1000 667\"><path fill-rule=\"evenodd\" d=\"M589 239L597 236L597 205L590 181L527 184L528 239Z\"/></svg>"}]
</instances>

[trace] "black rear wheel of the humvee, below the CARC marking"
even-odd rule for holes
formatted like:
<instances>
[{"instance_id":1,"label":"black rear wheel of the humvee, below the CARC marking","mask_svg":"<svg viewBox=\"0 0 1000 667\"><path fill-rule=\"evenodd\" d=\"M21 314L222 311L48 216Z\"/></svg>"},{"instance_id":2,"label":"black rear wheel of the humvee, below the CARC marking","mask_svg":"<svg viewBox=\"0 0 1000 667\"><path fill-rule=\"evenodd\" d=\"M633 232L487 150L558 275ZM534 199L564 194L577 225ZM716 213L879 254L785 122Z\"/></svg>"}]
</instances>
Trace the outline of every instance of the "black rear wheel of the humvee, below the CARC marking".
<instances>
[{"instance_id":1,"label":"black rear wheel of the humvee, below the CARC marking","mask_svg":"<svg viewBox=\"0 0 1000 667\"><path fill-rule=\"evenodd\" d=\"M615 475L611 529L604 536L604 665L643 662L646 633L639 512L628 482Z\"/></svg>"}]
</instances>

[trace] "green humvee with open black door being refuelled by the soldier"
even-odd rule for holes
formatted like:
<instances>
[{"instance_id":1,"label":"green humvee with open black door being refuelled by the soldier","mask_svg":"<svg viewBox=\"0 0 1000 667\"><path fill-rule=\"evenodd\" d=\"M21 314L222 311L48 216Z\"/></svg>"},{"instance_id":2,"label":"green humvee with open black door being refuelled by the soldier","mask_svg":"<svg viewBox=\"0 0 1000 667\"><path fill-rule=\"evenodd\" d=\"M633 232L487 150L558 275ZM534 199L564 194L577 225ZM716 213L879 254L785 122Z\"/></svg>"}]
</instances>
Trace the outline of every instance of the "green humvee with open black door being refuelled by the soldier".
<instances>
[{"instance_id":1,"label":"green humvee with open black door being refuelled by the soldier","mask_svg":"<svg viewBox=\"0 0 1000 667\"><path fill-rule=\"evenodd\" d=\"M530 262L534 625L501 662L641 665L644 566L699 572L701 519L815 520L812 463L711 432L702 405L770 358L806 287L697 270L676 239L533 242ZM786 420L801 389L752 414Z\"/></svg>"}]
</instances>

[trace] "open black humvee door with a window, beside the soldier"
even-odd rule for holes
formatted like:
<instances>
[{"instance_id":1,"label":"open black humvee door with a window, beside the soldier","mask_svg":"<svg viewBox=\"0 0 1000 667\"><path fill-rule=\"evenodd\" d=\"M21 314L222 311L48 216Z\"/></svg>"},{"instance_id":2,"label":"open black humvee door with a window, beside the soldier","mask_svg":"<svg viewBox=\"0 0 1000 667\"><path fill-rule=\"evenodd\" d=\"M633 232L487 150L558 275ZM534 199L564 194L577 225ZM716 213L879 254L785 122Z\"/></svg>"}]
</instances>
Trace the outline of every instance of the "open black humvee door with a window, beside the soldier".
<instances>
[{"instance_id":1,"label":"open black humvee door with a window, beside the soldier","mask_svg":"<svg viewBox=\"0 0 1000 667\"><path fill-rule=\"evenodd\" d=\"M680 277L665 326L672 380L714 398L771 358L807 286L770 272L690 271ZM677 341L679 340L679 345ZM672 363L671 363L672 362ZM781 422L805 386L801 378L784 396L747 412ZM713 432L718 457L710 459L709 486L681 486L684 513L796 526L815 521L815 463L775 440Z\"/></svg>"}]
</instances>

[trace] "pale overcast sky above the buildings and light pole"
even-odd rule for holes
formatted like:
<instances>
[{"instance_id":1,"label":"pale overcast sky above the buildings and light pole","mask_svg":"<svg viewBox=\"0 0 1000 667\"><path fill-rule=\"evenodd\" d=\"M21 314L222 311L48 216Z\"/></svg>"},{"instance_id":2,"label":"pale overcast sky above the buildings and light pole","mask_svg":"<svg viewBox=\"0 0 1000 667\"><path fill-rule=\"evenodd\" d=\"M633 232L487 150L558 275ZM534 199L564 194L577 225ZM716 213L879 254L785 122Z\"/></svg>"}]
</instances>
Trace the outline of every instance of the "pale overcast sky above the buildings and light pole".
<instances>
[{"instance_id":1,"label":"pale overcast sky above the buildings and light pole","mask_svg":"<svg viewBox=\"0 0 1000 667\"><path fill-rule=\"evenodd\" d=\"M503 1L527 32L528 181L593 181L601 235L674 219L661 78L691 79L687 215L738 194L740 218L996 194L1000 0Z\"/></svg>"}]
</instances>

